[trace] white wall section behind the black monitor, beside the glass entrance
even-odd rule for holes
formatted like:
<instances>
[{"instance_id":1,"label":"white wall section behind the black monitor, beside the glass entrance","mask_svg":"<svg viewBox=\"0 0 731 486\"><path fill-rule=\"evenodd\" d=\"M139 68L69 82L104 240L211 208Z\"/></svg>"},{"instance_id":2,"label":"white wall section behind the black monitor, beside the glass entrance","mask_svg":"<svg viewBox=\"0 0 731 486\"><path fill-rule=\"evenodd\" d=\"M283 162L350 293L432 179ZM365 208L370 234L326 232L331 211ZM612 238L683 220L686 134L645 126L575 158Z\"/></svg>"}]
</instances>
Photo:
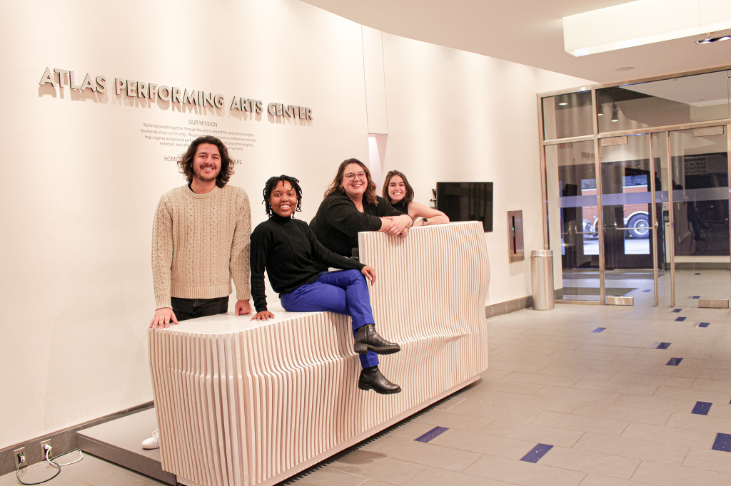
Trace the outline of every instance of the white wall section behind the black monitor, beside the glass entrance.
<instances>
[{"instance_id":1,"label":"white wall section behind the black monitor, beside the glass entrance","mask_svg":"<svg viewBox=\"0 0 731 486\"><path fill-rule=\"evenodd\" d=\"M529 252L543 248L536 93L586 81L388 34L383 44L384 173L403 171L423 204L437 181L493 182L486 304L530 295ZM526 259L509 263L507 212L519 209Z\"/></svg>"}]
</instances>

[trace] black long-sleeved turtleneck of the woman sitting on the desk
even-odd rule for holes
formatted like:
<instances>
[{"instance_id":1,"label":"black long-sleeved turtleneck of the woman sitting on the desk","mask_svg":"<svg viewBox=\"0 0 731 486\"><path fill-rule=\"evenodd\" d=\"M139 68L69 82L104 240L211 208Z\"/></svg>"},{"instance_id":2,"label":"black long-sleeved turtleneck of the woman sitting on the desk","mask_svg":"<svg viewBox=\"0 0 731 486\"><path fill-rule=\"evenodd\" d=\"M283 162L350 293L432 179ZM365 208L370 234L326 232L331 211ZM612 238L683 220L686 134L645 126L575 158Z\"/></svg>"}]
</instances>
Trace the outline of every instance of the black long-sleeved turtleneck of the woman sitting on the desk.
<instances>
[{"instance_id":1,"label":"black long-sleeved turtleneck of the woman sitting on the desk","mask_svg":"<svg viewBox=\"0 0 731 486\"><path fill-rule=\"evenodd\" d=\"M264 269L272 288L281 295L317 280L316 260L336 269L365 266L327 250L304 221L275 214L258 225L251 233L251 297L257 312L267 310Z\"/></svg>"}]
</instances>

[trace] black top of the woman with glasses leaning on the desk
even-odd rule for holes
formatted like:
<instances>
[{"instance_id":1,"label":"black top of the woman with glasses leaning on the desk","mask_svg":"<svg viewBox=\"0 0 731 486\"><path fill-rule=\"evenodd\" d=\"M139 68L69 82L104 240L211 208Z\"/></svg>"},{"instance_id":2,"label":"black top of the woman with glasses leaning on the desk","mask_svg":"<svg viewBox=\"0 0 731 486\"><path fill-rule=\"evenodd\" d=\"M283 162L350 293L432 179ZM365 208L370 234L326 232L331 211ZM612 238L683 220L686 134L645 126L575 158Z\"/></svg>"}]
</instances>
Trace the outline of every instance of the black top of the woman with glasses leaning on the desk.
<instances>
[{"instance_id":1,"label":"black top of the woman with glasses leaning on the desk","mask_svg":"<svg viewBox=\"0 0 731 486\"><path fill-rule=\"evenodd\" d=\"M358 247L358 231L378 231L382 216L399 216L404 213L393 208L384 198L377 196L376 204L363 201L363 212L340 191L322 200L317 215L312 218L312 232L322 244L338 255L349 257Z\"/></svg>"}]
</instances>

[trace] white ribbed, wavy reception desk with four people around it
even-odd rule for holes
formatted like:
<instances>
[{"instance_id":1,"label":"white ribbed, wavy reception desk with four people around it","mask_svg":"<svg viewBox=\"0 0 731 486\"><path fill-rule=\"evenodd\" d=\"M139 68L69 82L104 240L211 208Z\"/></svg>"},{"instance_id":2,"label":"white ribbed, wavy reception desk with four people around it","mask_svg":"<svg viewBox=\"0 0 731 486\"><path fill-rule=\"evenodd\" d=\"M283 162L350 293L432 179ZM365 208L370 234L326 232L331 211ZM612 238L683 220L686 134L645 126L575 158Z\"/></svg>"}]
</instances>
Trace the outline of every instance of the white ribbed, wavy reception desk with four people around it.
<instances>
[{"instance_id":1,"label":"white ribbed, wavy reception desk with four people around it","mask_svg":"<svg viewBox=\"0 0 731 486\"><path fill-rule=\"evenodd\" d=\"M380 368L403 391L357 388L349 317L216 315L150 330L162 468L184 485L273 485L479 378L488 366L481 223L360 234L376 269L376 329L401 344Z\"/></svg>"}]
</instances>

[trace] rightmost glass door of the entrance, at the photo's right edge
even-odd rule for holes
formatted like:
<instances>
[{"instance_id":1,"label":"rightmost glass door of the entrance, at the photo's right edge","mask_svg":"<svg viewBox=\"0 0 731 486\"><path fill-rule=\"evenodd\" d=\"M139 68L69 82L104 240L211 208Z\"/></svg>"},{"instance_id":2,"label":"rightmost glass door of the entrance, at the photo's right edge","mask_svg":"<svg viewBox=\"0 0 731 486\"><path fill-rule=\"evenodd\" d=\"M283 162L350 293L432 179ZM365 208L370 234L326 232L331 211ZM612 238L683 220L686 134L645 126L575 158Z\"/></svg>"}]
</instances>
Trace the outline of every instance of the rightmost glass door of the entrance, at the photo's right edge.
<instances>
[{"instance_id":1,"label":"rightmost glass door of the entrance, at the photo's right edge","mask_svg":"<svg viewBox=\"0 0 731 486\"><path fill-rule=\"evenodd\" d=\"M727 307L731 295L727 126L670 131L676 306Z\"/></svg>"}]
</instances>

